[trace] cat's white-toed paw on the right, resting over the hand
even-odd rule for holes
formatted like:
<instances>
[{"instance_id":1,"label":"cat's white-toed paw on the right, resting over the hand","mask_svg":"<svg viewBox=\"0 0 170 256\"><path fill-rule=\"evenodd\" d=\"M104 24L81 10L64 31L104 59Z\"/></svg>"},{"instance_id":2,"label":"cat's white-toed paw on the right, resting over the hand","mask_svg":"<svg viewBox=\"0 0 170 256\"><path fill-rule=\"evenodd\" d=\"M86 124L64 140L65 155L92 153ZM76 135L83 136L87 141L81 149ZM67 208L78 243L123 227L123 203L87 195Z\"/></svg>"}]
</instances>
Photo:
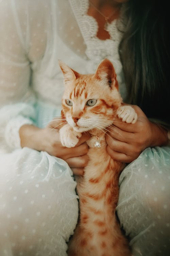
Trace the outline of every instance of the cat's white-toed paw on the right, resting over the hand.
<instances>
[{"instance_id":1,"label":"cat's white-toed paw on the right, resting over the hand","mask_svg":"<svg viewBox=\"0 0 170 256\"><path fill-rule=\"evenodd\" d=\"M117 110L117 116L122 119L123 122L128 124L135 124L137 120L137 114L131 106L120 106Z\"/></svg>"}]
</instances>

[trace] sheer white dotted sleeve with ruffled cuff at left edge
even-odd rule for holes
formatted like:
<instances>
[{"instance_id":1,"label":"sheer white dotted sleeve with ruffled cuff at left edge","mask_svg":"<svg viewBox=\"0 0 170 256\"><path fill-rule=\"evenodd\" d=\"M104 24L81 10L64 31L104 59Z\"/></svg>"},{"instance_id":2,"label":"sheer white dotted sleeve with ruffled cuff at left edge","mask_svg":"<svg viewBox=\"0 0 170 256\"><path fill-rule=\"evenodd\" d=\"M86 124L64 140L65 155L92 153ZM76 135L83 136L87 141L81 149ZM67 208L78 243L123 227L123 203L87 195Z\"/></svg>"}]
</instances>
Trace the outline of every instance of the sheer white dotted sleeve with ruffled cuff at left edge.
<instances>
[{"instance_id":1,"label":"sheer white dotted sleeve with ruffled cuff at left edge","mask_svg":"<svg viewBox=\"0 0 170 256\"><path fill-rule=\"evenodd\" d=\"M26 2L0 1L0 147L11 149L20 147L19 128L35 118Z\"/></svg>"}]
</instances>

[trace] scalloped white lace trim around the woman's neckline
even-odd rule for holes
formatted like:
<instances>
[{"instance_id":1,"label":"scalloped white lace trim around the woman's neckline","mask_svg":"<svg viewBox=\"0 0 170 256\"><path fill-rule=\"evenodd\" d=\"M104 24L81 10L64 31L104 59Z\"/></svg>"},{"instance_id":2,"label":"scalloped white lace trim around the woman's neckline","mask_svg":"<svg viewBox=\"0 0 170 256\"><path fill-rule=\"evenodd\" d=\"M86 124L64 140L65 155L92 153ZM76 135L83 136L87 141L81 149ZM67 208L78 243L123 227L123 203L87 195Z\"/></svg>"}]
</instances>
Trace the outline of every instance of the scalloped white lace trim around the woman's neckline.
<instances>
[{"instance_id":1,"label":"scalloped white lace trim around the woman's neckline","mask_svg":"<svg viewBox=\"0 0 170 256\"><path fill-rule=\"evenodd\" d=\"M97 37L98 23L96 19L87 15L89 1L70 0L70 4L87 45L86 55L89 60L87 63L87 70L90 73L95 72L99 62L104 58L108 58L113 62L119 79L122 65L119 58L118 46L122 33L117 29L117 25L119 25L120 28L123 28L122 15L120 14L118 20L113 20L113 22L107 26L107 32L111 38L101 40Z\"/></svg>"}]
</instances>

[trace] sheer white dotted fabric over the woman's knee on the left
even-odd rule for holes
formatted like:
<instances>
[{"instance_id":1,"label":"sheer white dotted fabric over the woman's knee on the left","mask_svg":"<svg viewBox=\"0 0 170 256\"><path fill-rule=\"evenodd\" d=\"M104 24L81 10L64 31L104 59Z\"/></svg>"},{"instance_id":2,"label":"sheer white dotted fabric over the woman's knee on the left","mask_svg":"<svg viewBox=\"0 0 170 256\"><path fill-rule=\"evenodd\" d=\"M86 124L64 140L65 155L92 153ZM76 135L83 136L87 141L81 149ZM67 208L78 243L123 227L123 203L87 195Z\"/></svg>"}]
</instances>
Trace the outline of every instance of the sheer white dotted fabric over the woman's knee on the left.
<instances>
[{"instance_id":1,"label":"sheer white dotted fabric over the woman's knee on the left","mask_svg":"<svg viewBox=\"0 0 170 256\"><path fill-rule=\"evenodd\" d=\"M78 218L67 163L29 148L0 162L0 255L67 255Z\"/></svg>"}]
</instances>

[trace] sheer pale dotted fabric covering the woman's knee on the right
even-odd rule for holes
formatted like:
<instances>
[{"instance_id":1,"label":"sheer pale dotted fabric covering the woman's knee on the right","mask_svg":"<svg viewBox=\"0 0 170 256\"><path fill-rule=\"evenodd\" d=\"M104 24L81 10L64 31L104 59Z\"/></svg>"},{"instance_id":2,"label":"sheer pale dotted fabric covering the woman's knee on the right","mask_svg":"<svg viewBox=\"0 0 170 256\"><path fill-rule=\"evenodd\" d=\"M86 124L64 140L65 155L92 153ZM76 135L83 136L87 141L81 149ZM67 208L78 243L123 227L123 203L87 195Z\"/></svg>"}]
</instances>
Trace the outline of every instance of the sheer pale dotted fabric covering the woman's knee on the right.
<instances>
[{"instance_id":1,"label":"sheer pale dotted fabric covering the woman's knee on the right","mask_svg":"<svg viewBox=\"0 0 170 256\"><path fill-rule=\"evenodd\" d=\"M117 213L133 255L170 255L170 147L146 148L119 185Z\"/></svg>"}]
</instances>

